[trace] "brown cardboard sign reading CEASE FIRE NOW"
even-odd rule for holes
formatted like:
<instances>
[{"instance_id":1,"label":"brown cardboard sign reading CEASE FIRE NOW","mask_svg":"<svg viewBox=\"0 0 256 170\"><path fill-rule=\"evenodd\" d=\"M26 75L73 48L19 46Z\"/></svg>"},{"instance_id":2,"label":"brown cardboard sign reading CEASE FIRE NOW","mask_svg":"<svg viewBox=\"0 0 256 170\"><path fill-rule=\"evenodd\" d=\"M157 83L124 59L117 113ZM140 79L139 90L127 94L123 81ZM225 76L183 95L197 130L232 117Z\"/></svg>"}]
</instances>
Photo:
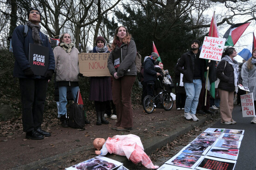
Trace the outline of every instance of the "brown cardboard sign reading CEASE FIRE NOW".
<instances>
[{"instance_id":1,"label":"brown cardboard sign reading CEASE FIRE NOW","mask_svg":"<svg viewBox=\"0 0 256 170\"><path fill-rule=\"evenodd\" d=\"M108 70L109 54L83 52L78 54L80 73L86 77L111 76Z\"/></svg>"}]
</instances>

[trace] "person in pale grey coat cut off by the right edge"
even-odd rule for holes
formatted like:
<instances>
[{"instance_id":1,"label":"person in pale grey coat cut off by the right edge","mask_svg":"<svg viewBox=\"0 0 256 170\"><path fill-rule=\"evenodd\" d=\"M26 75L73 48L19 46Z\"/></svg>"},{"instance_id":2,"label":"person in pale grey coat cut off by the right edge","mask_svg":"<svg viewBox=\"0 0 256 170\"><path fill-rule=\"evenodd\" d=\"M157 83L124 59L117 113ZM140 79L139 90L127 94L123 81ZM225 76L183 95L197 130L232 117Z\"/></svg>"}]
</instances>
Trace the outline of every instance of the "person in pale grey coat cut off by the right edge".
<instances>
[{"instance_id":1,"label":"person in pale grey coat cut off by the right edge","mask_svg":"<svg viewBox=\"0 0 256 170\"><path fill-rule=\"evenodd\" d=\"M256 48L252 51L252 57L242 66L243 82L239 82L249 88L254 98L254 108L256 110ZM256 124L256 117L253 117L251 123Z\"/></svg>"}]
</instances>

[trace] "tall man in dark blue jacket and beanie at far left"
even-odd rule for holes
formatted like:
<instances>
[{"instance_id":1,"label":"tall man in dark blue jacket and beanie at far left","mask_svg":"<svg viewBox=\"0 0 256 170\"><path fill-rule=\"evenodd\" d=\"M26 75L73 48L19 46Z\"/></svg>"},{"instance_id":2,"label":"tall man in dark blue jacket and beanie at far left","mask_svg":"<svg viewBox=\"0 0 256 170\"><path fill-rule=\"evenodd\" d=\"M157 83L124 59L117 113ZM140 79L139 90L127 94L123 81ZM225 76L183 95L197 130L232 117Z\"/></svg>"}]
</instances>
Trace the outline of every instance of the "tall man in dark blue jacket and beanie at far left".
<instances>
[{"instance_id":1,"label":"tall man in dark blue jacket and beanie at far left","mask_svg":"<svg viewBox=\"0 0 256 170\"><path fill-rule=\"evenodd\" d=\"M40 11L32 7L27 12L27 26L17 26L12 35L13 54L15 57L13 76L19 78L22 124L26 138L43 139L49 132L41 129L45 106L48 80L54 73L54 53L45 34L40 32ZM25 28L27 33L25 33ZM29 44L45 46L48 52L48 69L42 75L34 74L29 64ZM35 54L34 54L35 55Z\"/></svg>"}]
</instances>

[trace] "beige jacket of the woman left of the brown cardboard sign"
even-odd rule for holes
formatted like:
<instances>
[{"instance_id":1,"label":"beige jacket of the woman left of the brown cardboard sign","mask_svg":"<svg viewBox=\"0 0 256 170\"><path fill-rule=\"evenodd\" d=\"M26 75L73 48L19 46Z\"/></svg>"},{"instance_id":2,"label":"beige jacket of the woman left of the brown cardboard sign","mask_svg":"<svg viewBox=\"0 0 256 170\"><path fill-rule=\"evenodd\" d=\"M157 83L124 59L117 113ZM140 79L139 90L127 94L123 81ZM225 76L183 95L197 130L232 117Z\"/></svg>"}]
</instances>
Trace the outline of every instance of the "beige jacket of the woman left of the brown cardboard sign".
<instances>
[{"instance_id":1,"label":"beige jacket of the woman left of the brown cardboard sign","mask_svg":"<svg viewBox=\"0 0 256 170\"><path fill-rule=\"evenodd\" d=\"M78 49L73 47L66 52L61 46L54 48L56 81L78 82Z\"/></svg>"}]
</instances>

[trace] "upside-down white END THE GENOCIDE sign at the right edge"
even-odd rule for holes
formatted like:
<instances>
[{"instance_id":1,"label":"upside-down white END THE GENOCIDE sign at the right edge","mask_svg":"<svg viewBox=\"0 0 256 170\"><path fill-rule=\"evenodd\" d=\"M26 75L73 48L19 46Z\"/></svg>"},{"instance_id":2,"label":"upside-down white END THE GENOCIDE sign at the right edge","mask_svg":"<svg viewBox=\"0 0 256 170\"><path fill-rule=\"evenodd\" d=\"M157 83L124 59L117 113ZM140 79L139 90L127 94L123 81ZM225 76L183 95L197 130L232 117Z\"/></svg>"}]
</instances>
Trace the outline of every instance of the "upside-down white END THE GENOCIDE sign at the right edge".
<instances>
[{"instance_id":1,"label":"upside-down white END THE GENOCIDE sign at the right edge","mask_svg":"<svg viewBox=\"0 0 256 170\"><path fill-rule=\"evenodd\" d=\"M240 98L243 117L255 117L253 94L244 94Z\"/></svg>"}]
</instances>

